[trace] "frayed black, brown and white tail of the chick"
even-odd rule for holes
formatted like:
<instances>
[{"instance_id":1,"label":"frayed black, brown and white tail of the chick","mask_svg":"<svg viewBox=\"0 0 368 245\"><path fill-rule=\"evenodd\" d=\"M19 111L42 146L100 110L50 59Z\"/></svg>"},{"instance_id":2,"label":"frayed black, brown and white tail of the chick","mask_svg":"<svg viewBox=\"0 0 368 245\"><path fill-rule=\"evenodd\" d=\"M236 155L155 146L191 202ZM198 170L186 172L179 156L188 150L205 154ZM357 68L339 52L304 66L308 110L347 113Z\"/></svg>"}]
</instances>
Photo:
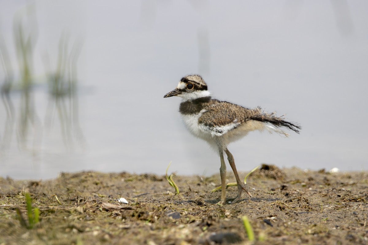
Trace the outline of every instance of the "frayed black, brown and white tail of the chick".
<instances>
[{"instance_id":1,"label":"frayed black, brown and white tail of the chick","mask_svg":"<svg viewBox=\"0 0 368 245\"><path fill-rule=\"evenodd\" d=\"M283 116L276 116L276 112L268 113L262 110L261 107L257 107L254 110L254 115L251 116L251 120L269 123L266 125L266 129L272 133L276 132L278 134L283 134L284 136L289 136L288 133L284 132L282 129L279 129L281 127L287 128L290 130L293 130L296 133L300 133L299 130L301 129L301 126L294 122L288 122L284 120ZM276 126L276 127L274 127Z\"/></svg>"}]
</instances>

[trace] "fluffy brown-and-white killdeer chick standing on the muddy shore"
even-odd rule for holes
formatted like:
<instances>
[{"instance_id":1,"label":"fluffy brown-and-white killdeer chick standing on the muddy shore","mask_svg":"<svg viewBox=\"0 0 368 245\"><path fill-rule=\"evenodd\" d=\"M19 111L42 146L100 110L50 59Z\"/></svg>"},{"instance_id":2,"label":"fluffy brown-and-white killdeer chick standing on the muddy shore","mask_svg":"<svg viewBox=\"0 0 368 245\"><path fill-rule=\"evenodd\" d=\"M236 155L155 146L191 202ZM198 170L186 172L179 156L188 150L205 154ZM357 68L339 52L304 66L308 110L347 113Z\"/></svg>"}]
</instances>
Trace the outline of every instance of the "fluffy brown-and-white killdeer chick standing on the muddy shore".
<instances>
[{"instance_id":1,"label":"fluffy brown-and-white killdeer chick standing on the muddy shore","mask_svg":"<svg viewBox=\"0 0 368 245\"><path fill-rule=\"evenodd\" d=\"M235 167L234 157L227 149L227 145L246 136L249 131L267 130L288 136L280 129L284 127L299 133L300 126L285 121L275 112L264 112L261 107L248 109L227 101L219 101L211 97L207 84L199 75L189 75L182 78L173 91L165 94L164 98L179 96L183 99L179 112L188 130L195 136L207 141L220 154L221 199L218 204L226 201L226 153L231 169L233 169L238 185L238 195L231 203L240 201L243 191L252 197L245 184L240 181Z\"/></svg>"}]
</instances>

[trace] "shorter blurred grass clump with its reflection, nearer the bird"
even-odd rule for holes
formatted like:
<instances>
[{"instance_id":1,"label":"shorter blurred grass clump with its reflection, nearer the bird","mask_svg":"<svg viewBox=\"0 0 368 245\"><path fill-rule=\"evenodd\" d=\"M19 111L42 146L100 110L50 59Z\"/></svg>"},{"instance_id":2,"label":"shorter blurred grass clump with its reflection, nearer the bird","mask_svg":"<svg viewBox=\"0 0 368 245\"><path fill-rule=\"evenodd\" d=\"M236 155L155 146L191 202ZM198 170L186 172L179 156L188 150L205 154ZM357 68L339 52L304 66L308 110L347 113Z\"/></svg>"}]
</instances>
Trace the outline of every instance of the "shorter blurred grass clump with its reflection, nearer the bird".
<instances>
[{"instance_id":1,"label":"shorter blurred grass clump with its reflection, nearer the bird","mask_svg":"<svg viewBox=\"0 0 368 245\"><path fill-rule=\"evenodd\" d=\"M61 35L56 68L52 70L48 55L45 66L48 70L47 86L49 100L45 118L45 127L50 130L55 113L59 118L64 144L72 147L74 141L84 143L84 135L79 125L78 93L77 93L77 61L82 44L75 42L69 51L68 37Z\"/></svg>"}]
</instances>

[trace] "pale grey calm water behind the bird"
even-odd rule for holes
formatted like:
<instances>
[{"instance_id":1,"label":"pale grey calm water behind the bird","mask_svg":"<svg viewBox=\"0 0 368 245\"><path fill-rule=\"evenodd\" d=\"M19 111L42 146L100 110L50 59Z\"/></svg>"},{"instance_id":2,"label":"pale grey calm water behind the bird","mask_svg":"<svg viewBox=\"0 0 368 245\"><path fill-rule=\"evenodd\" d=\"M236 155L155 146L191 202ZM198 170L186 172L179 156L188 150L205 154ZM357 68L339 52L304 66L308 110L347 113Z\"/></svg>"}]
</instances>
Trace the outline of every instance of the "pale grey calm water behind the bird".
<instances>
[{"instance_id":1,"label":"pale grey calm water behind the bird","mask_svg":"<svg viewBox=\"0 0 368 245\"><path fill-rule=\"evenodd\" d=\"M180 122L180 100L163 98L190 73L216 98L302 125L300 135L252 132L230 145L240 171L262 162L367 170L367 7L2 2L0 176L164 174L170 161L178 174L217 173L217 154Z\"/></svg>"}]
</instances>

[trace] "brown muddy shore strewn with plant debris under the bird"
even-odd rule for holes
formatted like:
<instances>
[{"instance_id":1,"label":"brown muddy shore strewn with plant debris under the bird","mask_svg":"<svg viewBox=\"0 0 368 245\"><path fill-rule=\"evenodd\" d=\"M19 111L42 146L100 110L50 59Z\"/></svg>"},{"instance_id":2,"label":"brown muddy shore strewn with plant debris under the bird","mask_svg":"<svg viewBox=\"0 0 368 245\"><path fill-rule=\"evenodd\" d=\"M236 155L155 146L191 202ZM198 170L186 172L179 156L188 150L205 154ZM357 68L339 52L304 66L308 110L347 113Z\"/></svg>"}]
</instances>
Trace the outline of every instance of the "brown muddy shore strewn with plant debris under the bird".
<instances>
[{"instance_id":1,"label":"brown muddy shore strewn with plant debris under the bird","mask_svg":"<svg viewBox=\"0 0 368 245\"><path fill-rule=\"evenodd\" d=\"M241 202L224 206L215 204L220 192L211 192L220 185L219 175L173 179L180 195L165 176L152 174L0 178L0 245L368 244L368 172L264 166L247 179L253 198L245 194ZM235 182L230 173L228 179ZM227 188L227 201L236 190ZM40 213L33 228L27 227L26 193ZM119 203L121 197L128 204Z\"/></svg>"}]
</instances>

